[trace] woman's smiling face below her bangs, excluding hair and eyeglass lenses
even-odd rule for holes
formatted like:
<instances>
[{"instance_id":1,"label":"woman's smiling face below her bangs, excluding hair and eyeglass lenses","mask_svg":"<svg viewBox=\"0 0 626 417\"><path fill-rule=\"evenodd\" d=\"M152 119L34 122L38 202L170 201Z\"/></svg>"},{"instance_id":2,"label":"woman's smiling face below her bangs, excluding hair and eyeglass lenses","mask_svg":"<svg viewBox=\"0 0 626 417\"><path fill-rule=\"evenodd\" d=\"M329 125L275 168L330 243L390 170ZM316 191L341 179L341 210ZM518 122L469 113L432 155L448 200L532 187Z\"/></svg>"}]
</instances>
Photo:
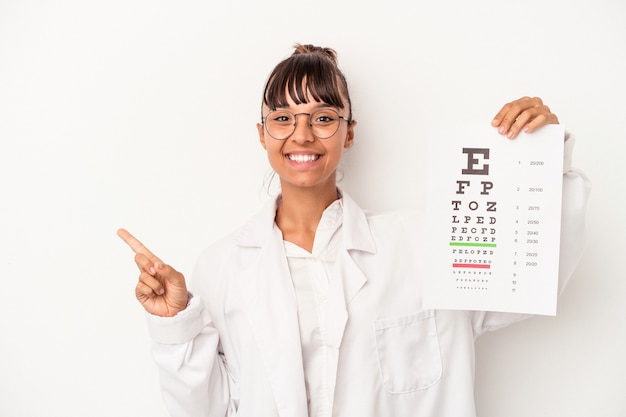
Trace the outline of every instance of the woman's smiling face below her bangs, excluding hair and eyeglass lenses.
<instances>
[{"instance_id":1,"label":"woman's smiling face below her bangs, excluding hair and eyeglass lenses","mask_svg":"<svg viewBox=\"0 0 626 417\"><path fill-rule=\"evenodd\" d=\"M346 106L340 109L314 100L296 104L288 99L288 106L280 109L297 114L296 128L291 136L285 140L277 140L269 135L263 124L257 125L259 140L267 151L270 165L280 177L283 191L287 187L315 190L334 190L336 187L337 167L344 150L352 145L356 122L342 120L334 135L327 139L318 139L309 127L308 115L322 108L332 108L348 119L349 111ZM270 110L267 105L263 105L264 116Z\"/></svg>"}]
</instances>

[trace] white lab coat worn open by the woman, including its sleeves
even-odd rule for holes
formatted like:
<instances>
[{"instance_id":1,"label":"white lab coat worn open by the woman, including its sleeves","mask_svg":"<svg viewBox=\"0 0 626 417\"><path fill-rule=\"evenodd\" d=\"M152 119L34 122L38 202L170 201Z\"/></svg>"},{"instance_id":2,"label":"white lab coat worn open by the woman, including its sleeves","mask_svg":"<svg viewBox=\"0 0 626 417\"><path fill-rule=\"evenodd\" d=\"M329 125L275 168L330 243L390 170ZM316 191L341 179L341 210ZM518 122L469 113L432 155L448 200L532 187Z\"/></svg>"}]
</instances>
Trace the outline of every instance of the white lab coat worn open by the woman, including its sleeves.
<instances>
[{"instance_id":1,"label":"white lab coat worn open by the woman, including its sleeves","mask_svg":"<svg viewBox=\"0 0 626 417\"><path fill-rule=\"evenodd\" d=\"M560 286L583 248L589 184L566 142ZM330 283L339 349L333 416L471 417L474 341L525 316L424 310L423 214L370 214L343 194L342 281ZM296 297L269 204L207 249L173 318L148 317L172 416L305 417Z\"/></svg>"}]
</instances>

